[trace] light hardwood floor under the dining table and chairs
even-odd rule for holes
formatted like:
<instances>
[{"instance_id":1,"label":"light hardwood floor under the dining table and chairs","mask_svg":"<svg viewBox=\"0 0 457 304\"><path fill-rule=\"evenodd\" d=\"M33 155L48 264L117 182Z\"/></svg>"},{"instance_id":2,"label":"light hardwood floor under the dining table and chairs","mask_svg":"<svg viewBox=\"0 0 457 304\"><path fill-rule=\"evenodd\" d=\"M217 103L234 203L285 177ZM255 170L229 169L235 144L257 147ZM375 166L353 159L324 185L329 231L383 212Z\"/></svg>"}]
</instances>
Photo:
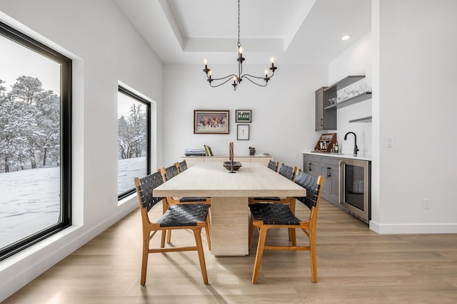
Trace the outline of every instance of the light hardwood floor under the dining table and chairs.
<instances>
[{"instance_id":1,"label":"light hardwood floor under the dining table and chairs","mask_svg":"<svg viewBox=\"0 0 457 304\"><path fill-rule=\"evenodd\" d=\"M297 204L297 214L306 213ZM318 283L311 283L306 251L266 251L253 285L255 246L249 256L216 258L204 243L209 285L202 282L196 252L187 252L151 254L141 287L136 210L4 304L457 303L457 234L378 235L325 200L317 231ZM302 234L297 231L298 241L305 240ZM286 241L287 231L267 237ZM171 241L192 243L194 237L177 231Z\"/></svg>"}]
</instances>

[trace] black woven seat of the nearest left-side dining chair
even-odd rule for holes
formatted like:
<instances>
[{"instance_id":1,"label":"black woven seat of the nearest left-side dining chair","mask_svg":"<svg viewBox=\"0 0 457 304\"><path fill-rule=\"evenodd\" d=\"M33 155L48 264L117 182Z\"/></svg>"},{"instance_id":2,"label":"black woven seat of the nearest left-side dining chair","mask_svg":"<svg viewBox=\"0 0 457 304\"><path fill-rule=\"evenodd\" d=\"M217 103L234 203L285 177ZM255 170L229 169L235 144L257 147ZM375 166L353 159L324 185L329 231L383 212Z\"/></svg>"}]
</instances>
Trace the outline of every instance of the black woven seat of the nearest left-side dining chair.
<instances>
[{"instance_id":1,"label":"black woven seat of the nearest left-side dining chair","mask_svg":"<svg viewBox=\"0 0 457 304\"><path fill-rule=\"evenodd\" d=\"M157 221L161 227L196 226L199 221L206 221L209 206L205 204L172 205Z\"/></svg>"}]
</instances>

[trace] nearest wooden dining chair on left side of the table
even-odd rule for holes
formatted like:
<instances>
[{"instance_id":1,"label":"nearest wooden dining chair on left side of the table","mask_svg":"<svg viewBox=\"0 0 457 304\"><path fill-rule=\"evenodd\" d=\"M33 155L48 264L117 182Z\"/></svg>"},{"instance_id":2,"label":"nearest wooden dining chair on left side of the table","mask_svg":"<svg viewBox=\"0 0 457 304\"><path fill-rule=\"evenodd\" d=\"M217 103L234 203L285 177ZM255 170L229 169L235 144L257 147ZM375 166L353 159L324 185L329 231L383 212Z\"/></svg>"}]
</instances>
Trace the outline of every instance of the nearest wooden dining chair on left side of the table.
<instances>
[{"instance_id":1,"label":"nearest wooden dining chair on left side of the table","mask_svg":"<svg viewBox=\"0 0 457 304\"><path fill-rule=\"evenodd\" d=\"M149 174L139 179L135 178L136 194L138 196L141 221L143 222L143 253L141 261L141 285L146 284L146 271L148 268L149 253L164 253L174 251L197 251L199 255L201 274L203 281L208 284L206 274L205 256L201 244L201 229L208 226L209 206L206 204L181 204L168 206L163 197L155 197L153 190L164 183L160 172ZM149 211L162 202L166 205L164 214L154 222L149 219ZM171 229L190 229L194 232L196 246L165 247L165 231ZM162 231L161 247L150 248L150 241L158 231Z\"/></svg>"}]
</instances>

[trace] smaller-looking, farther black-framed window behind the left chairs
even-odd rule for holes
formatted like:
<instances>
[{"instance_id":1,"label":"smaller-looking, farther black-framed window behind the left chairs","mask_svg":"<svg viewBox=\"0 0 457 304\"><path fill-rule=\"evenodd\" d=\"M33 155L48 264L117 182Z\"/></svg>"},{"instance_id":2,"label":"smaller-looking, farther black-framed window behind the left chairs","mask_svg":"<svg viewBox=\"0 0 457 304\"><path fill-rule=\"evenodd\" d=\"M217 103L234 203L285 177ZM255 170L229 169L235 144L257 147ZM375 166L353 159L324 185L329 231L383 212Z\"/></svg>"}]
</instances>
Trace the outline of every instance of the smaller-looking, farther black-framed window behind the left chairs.
<instances>
[{"instance_id":1,"label":"smaller-looking, farther black-framed window behind the left chairs","mask_svg":"<svg viewBox=\"0 0 457 304\"><path fill-rule=\"evenodd\" d=\"M149 174L151 103L119 86L118 93L118 199L135 191L134 178Z\"/></svg>"}]
</instances>

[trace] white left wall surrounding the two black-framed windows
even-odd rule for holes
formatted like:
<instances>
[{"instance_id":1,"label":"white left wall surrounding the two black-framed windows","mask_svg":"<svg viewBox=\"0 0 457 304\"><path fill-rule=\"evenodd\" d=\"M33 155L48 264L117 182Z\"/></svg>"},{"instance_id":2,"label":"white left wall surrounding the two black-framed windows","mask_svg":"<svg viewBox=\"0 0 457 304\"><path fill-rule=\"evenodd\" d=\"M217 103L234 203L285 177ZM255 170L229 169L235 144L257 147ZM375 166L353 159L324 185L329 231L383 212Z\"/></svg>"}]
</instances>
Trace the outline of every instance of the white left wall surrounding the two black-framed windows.
<instances>
[{"instance_id":1,"label":"white left wall surrounding the two black-framed windows","mask_svg":"<svg viewBox=\"0 0 457 304\"><path fill-rule=\"evenodd\" d=\"M164 67L113 1L0 0L0 11L74 59L74 226L0 262L1 301L136 208L135 198L117 203L117 86L156 101L161 147Z\"/></svg>"}]
</instances>

